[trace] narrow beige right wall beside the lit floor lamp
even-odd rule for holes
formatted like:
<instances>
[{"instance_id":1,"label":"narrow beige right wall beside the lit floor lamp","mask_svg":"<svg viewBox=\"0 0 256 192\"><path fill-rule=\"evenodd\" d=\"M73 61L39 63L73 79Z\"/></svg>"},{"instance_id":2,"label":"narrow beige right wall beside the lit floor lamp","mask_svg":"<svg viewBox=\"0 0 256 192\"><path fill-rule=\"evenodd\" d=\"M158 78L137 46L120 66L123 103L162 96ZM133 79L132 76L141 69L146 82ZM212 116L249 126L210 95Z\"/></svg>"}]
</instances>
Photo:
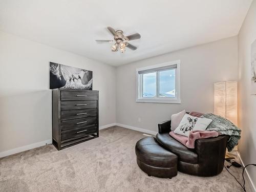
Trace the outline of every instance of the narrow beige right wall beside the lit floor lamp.
<instances>
[{"instance_id":1,"label":"narrow beige right wall beside the lit floor lamp","mask_svg":"<svg viewBox=\"0 0 256 192\"><path fill-rule=\"evenodd\" d=\"M250 95L251 43L256 39L256 1L253 1L238 35L239 45L239 126L242 138L238 150L244 164L256 163L256 95ZM256 167L248 167L256 186Z\"/></svg>"}]
</instances>

